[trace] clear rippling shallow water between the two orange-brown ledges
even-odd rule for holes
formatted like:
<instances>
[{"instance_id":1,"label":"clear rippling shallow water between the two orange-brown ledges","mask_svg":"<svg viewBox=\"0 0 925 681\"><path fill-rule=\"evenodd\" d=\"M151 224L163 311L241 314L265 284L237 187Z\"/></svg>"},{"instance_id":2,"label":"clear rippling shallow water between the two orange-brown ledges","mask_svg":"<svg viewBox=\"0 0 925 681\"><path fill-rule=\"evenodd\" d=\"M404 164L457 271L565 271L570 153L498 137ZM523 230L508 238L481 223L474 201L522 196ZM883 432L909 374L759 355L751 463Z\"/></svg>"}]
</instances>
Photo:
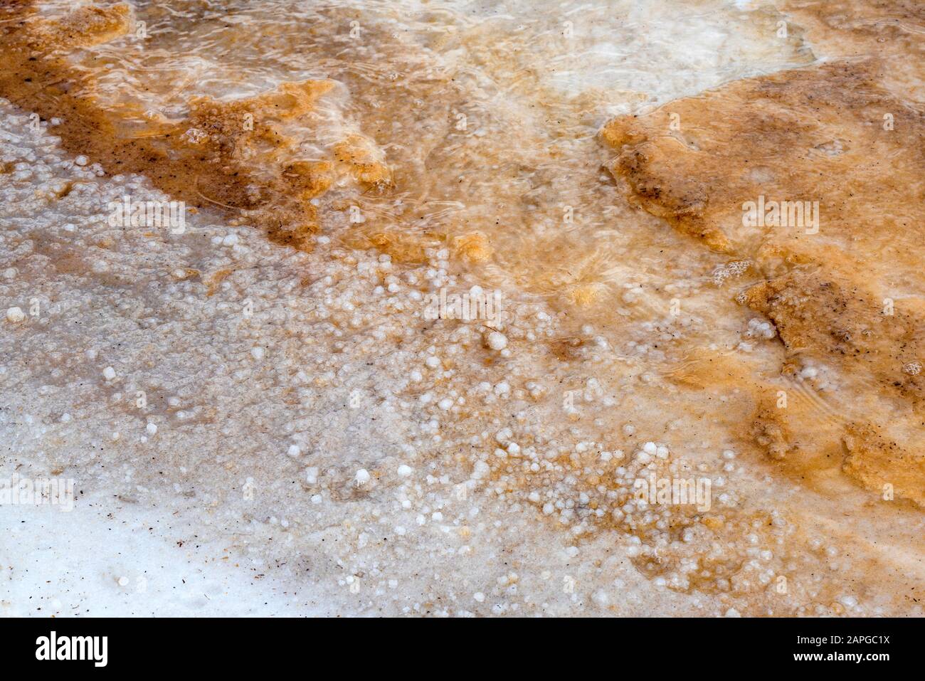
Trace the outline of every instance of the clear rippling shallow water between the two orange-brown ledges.
<instances>
[{"instance_id":1,"label":"clear rippling shallow water between the two orange-brown ledges","mask_svg":"<svg viewBox=\"0 0 925 681\"><path fill-rule=\"evenodd\" d=\"M780 18L722 3L140 3L143 49L107 43L93 68L105 96L171 119L191 94L336 80L334 110L293 155L323 161L357 132L394 186L328 192L327 231L355 243L342 232L357 204L361 234L399 254L475 239L479 279L572 304L619 291L623 263L648 260L649 226L612 200L600 125L807 64L799 31L776 36Z\"/></svg>"}]
</instances>

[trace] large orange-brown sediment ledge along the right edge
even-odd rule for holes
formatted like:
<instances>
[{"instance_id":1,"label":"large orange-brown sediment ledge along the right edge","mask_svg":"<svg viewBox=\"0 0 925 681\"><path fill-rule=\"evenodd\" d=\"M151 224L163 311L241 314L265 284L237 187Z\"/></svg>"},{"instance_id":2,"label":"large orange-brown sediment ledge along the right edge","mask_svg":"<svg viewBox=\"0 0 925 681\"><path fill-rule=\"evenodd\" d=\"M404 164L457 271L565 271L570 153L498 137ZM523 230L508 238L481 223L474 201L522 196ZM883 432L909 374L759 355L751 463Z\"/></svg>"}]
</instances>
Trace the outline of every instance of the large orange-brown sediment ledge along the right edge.
<instances>
[{"instance_id":1,"label":"large orange-brown sediment ledge along the right edge","mask_svg":"<svg viewBox=\"0 0 925 681\"><path fill-rule=\"evenodd\" d=\"M925 117L881 87L880 68L739 80L617 118L601 136L631 201L759 272L738 300L776 325L782 374L806 358L839 368L840 384L813 396L833 402L833 419L754 389L748 427L765 451L801 477L844 460L868 489L925 505ZM746 216L783 201L778 222ZM800 221L796 207L802 224L780 224Z\"/></svg>"}]
</instances>

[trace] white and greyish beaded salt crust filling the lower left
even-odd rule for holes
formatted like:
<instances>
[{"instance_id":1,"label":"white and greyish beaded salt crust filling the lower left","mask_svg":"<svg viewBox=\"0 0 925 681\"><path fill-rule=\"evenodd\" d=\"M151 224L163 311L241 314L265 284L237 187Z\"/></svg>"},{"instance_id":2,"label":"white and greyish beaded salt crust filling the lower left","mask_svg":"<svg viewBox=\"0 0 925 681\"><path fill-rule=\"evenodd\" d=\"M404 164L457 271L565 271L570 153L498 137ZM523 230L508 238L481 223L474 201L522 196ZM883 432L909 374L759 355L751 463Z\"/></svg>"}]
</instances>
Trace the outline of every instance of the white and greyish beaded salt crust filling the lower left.
<instances>
[{"instance_id":1,"label":"white and greyish beaded salt crust filling the lower left","mask_svg":"<svg viewBox=\"0 0 925 681\"><path fill-rule=\"evenodd\" d=\"M478 464L467 473L441 461L462 441L441 440L447 412L413 399L407 366L425 367L413 392L449 380L441 391L498 415L492 405L511 389L479 366L481 328L456 328L434 348L410 287L374 292L393 271L388 258L292 252L246 228L231 252L215 249L231 229L203 214L179 236L109 228L107 202L166 197L74 164L6 103L0 116L0 160L16 164L0 184L0 299L25 311L38 302L37 316L6 321L0 336L0 470L60 470L78 490L70 513L4 510L16 525L0 539L4 613L569 614L596 610L591 593L617 588L615 576L633 589L611 598L619 613L716 613L654 588L613 538L586 549L605 551L607 570L573 563L554 548L570 539L538 523L525 495L526 506L494 499ZM51 198L66 180L73 190ZM208 295L224 268L233 274ZM314 283L303 287L306 273ZM402 279L426 281L425 271ZM524 305L506 331L553 335L554 317ZM405 341L387 352L395 337ZM262 363L254 347L269 349ZM441 356L475 376L444 369ZM513 563L528 567L513 575ZM133 590L142 576L145 590ZM579 587L563 592L566 576Z\"/></svg>"}]
</instances>

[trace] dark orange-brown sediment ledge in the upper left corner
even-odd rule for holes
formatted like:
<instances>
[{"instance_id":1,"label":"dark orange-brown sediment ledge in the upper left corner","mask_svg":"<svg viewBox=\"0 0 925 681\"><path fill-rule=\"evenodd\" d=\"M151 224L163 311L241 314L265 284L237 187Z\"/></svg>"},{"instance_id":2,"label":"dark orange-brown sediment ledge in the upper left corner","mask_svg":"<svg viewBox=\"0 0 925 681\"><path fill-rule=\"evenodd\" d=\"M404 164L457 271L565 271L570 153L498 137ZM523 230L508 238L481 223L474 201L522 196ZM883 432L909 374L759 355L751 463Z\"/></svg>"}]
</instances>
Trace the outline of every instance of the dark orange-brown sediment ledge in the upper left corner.
<instances>
[{"instance_id":1,"label":"dark orange-brown sediment ledge in the upper left corner","mask_svg":"<svg viewBox=\"0 0 925 681\"><path fill-rule=\"evenodd\" d=\"M388 184L388 168L358 135L333 145L324 161L291 160L298 140L286 124L304 121L331 80L284 82L233 102L191 97L187 118L147 117L137 106L106 107L93 75L69 56L133 30L130 7L82 6L60 19L37 14L31 1L0 5L0 95L42 118L66 149L89 155L108 172L142 173L173 198L211 206L301 250L318 230L311 200L344 173L363 187ZM259 169L259 174L258 174Z\"/></svg>"}]
</instances>

